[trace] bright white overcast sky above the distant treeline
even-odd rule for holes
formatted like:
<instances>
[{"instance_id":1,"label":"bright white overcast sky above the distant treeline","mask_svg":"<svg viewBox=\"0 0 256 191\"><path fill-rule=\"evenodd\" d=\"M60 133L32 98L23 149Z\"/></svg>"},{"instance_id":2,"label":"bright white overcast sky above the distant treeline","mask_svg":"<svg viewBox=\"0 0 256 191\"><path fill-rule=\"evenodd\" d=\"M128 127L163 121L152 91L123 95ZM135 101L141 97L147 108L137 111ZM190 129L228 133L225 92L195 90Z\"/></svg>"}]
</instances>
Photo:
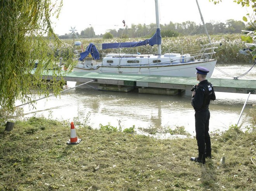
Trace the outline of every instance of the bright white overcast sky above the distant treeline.
<instances>
[{"instance_id":1,"label":"bright white overcast sky above the distant treeline","mask_svg":"<svg viewBox=\"0 0 256 191\"><path fill-rule=\"evenodd\" d=\"M217 5L209 0L198 0L204 22L242 20L249 8L237 5L233 0L222 0ZM159 0L160 23L168 24L194 21L201 22L195 0ZM251 11L252 12L252 11ZM71 27L81 32L92 26L95 34L104 34L107 29L123 28L125 20L131 24L156 23L154 0L63 0L59 19L54 19L54 31L59 35L69 33Z\"/></svg>"}]
</instances>

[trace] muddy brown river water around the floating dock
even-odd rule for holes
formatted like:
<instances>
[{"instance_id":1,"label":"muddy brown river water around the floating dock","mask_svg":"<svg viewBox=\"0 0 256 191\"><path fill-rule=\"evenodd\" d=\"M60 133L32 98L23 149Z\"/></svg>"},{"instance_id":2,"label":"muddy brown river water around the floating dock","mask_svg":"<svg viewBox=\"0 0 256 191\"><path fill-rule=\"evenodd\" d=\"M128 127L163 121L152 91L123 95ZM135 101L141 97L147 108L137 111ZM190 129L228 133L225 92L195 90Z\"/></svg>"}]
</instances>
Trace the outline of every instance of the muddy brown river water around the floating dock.
<instances>
[{"instance_id":1,"label":"muddy brown river water around the floating dock","mask_svg":"<svg viewBox=\"0 0 256 191\"><path fill-rule=\"evenodd\" d=\"M231 78L249 70L248 64L221 64L215 69L212 78ZM220 71L221 70L221 71ZM222 72L223 71L223 72ZM256 68L240 79L256 79ZM210 80L209 80L210 81ZM195 84L197 83L195 79ZM214 85L214 84L213 84ZM76 86L76 82L67 82L66 88ZM240 112L248 94L216 92L216 101L211 102L210 131L225 131L232 124L237 124ZM59 120L79 120L92 128L100 124L130 128L135 125L138 134L145 134L144 128L164 130L184 126L191 135L195 135L194 110L191 106L191 92L185 95L151 95L133 92L109 92L92 88L88 85L63 92L61 97L49 97L36 103L36 109L23 106L23 118L45 116ZM256 104L256 95L249 96L239 126L250 126L250 109ZM156 134L156 136L159 136ZM161 137L169 136L161 134Z\"/></svg>"}]
</instances>

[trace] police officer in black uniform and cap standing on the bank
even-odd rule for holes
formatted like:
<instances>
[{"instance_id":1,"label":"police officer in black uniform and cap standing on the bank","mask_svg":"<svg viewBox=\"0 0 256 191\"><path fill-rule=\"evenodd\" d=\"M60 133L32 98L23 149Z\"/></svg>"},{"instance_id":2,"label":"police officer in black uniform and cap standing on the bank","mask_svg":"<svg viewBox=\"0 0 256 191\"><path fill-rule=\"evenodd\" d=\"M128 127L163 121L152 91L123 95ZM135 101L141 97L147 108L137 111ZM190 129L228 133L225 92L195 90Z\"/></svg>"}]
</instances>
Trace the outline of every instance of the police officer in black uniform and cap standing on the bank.
<instances>
[{"instance_id":1,"label":"police officer in black uniform and cap standing on the bank","mask_svg":"<svg viewBox=\"0 0 256 191\"><path fill-rule=\"evenodd\" d=\"M191 157L191 161L205 163L206 157L211 159L211 139L209 135L209 104L215 100L213 85L206 80L209 72L207 68L196 67L196 78L199 84L192 89L191 104L195 109L195 133L198 146L198 157Z\"/></svg>"}]
</instances>

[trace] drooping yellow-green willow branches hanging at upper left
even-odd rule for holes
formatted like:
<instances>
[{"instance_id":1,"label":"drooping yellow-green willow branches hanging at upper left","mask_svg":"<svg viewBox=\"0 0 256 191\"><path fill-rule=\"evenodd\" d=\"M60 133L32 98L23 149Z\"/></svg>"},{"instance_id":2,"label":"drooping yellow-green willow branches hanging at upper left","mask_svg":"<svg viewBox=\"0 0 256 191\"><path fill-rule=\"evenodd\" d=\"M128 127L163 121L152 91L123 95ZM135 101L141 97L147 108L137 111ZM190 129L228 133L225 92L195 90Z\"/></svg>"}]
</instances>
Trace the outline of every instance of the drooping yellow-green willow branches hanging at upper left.
<instances>
[{"instance_id":1,"label":"drooping yellow-green willow branches hanging at upper left","mask_svg":"<svg viewBox=\"0 0 256 191\"><path fill-rule=\"evenodd\" d=\"M30 102L34 90L39 95L49 94L41 73L53 67L54 49L61 46L50 20L58 17L61 6L62 0L54 4L50 0L0 1L0 109L13 111L17 99ZM47 33L54 40L47 39ZM39 63L32 75L35 60ZM57 95L60 86L56 75L61 74L58 70L54 74L52 90ZM36 89L38 86L40 90Z\"/></svg>"}]
</instances>

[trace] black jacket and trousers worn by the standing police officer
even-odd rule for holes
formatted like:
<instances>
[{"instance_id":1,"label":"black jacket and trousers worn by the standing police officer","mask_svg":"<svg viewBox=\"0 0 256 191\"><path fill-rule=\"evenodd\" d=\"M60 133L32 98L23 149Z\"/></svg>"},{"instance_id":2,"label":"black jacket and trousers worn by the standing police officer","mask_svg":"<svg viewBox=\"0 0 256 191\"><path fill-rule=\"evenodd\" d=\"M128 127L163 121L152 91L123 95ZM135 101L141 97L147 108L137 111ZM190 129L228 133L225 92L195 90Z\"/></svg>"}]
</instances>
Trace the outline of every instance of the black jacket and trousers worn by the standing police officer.
<instances>
[{"instance_id":1,"label":"black jacket and trousers worn by the standing police officer","mask_svg":"<svg viewBox=\"0 0 256 191\"><path fill-rule=\"evenodd\" d=\"M209 104L210 100L215 100L213 86L208 80L201 81L192 96L191 104L195 109L195 133L198 146L199 157L211 155L211 139L209 135Z\"/></svg>"}]
</instances>

